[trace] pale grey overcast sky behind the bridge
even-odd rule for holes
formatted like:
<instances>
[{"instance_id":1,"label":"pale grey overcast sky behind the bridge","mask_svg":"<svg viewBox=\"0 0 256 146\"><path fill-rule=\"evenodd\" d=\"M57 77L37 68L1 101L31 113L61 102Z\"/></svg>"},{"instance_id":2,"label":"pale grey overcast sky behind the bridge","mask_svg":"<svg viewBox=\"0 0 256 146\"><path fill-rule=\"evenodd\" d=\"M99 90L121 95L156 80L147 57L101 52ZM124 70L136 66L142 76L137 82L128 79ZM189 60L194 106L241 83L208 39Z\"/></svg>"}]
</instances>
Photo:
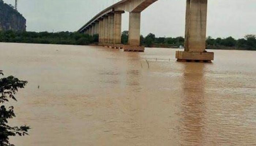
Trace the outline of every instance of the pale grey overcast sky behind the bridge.
<instances>
[{"instance_id":1,"label":"pale grey overcast sky behind the bridge","mask_svg":"<svg viewBox=\"0 0 256 146\"><path fill-rule=\"evenodd\" d=\"M4 0L14 4L15 0ZM76 31L119 0L18 0L27 31ZM184 36L186 0L158 0L142 12L141 34ZM256 34L256 0L208 0L207 36L242 38ZM128 30L128 13L122 30Z\"/></svg>"}]
</instances>

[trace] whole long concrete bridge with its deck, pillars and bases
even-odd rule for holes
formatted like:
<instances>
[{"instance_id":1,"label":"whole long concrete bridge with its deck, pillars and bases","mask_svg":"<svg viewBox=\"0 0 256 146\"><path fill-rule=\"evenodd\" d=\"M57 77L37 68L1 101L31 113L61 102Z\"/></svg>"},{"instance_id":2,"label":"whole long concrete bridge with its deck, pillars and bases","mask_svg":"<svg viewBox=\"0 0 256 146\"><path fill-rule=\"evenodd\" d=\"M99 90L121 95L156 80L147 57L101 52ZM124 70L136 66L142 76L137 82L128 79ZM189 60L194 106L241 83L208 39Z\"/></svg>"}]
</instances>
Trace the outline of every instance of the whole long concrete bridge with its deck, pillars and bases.
<instances>
[{"instance_id":1,"label":"whole long concrete bridge with its deck, pillars and bases","mask_svg":"<svg viewBox=\"0 0 256 146\"><path fill-rule=\"evenodd\" d=\"M155 1L122 0L101 11L78 31L99 34L99 45L102 46L144 51L140 46L140 16ZM121 44L121 20L125 11L129 12L128 45ZM211 62L214 53L205 50L207 0L187 0L185 21L185 50L176 52L177 61Z\"/></svg>"}]
</instances>

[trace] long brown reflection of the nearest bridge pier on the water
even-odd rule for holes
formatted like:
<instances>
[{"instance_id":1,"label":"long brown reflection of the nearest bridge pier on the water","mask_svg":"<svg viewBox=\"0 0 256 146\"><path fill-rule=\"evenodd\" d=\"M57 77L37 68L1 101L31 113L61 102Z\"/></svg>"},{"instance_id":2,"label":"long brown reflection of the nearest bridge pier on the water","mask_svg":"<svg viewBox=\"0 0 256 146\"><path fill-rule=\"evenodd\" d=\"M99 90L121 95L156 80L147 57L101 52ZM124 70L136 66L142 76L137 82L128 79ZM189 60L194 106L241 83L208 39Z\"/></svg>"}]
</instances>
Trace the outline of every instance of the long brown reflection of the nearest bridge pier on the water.
<instances>
[{"instance_id":1,"label":"long brown reflection of the nearest bridge pier on the water","mask_svg":"<svg viewBox=\"0 0 256 146\"><path fill-rule=\"evenodd\" d=\"M202 145L204 128L204 64L184 63L182 145Z\"/></svg>"}]
</instances>

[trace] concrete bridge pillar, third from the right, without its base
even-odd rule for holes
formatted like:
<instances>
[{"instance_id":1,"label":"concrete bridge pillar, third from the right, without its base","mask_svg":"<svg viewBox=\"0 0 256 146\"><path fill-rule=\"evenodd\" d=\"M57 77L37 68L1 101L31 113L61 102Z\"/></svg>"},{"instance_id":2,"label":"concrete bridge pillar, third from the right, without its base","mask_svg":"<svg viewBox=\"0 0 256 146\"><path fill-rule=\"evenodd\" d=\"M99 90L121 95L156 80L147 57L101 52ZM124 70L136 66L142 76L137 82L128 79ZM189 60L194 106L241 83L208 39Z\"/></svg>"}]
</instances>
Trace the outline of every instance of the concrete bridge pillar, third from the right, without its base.
<instances>
[{"instance_id":1,"label":"concrete bridge pillar, third from the right, without its base","mask_svg":"<svg viewBox=\"0 0 256 146\"><path fill-rule=\"evenodd\" d=\"M122 23L122 13L114 13L114 38L113 43L121 43L121 23Z\"/></svg>"}]
</instances>

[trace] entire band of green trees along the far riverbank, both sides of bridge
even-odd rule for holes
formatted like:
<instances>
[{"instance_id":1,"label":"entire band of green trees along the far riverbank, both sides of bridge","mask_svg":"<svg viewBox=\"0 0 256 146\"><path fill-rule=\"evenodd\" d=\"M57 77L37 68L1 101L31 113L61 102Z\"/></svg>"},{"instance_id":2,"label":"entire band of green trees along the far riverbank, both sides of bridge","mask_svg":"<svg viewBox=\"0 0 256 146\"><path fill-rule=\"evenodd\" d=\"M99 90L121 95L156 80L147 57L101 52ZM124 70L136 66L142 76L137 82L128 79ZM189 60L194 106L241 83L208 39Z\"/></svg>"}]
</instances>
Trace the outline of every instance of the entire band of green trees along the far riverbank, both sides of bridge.
<instances>
[{"instance_id":1,"label":"entire band of green trees along the far riverbank, both sides of bridge","mask_svg":"<svg viewBox=\"0 0 256 146\"><path fill-rule=\"evenodd\" d=\"M121 34L121 43L128 43L128 31ZM43 43L63 45L89 45L98 42L98 35L90 36L79 32L25 32L25 31L0 31L0 42L15 43ZM150 33L146 37L140 36L140 45L146 47L178 48L184 47L183 37L155 37ZM228 49L228 50L256 50L256 36L246 35L241 39L227 38L206 38L207 49Z\"/></svg>"}]
</instances>

